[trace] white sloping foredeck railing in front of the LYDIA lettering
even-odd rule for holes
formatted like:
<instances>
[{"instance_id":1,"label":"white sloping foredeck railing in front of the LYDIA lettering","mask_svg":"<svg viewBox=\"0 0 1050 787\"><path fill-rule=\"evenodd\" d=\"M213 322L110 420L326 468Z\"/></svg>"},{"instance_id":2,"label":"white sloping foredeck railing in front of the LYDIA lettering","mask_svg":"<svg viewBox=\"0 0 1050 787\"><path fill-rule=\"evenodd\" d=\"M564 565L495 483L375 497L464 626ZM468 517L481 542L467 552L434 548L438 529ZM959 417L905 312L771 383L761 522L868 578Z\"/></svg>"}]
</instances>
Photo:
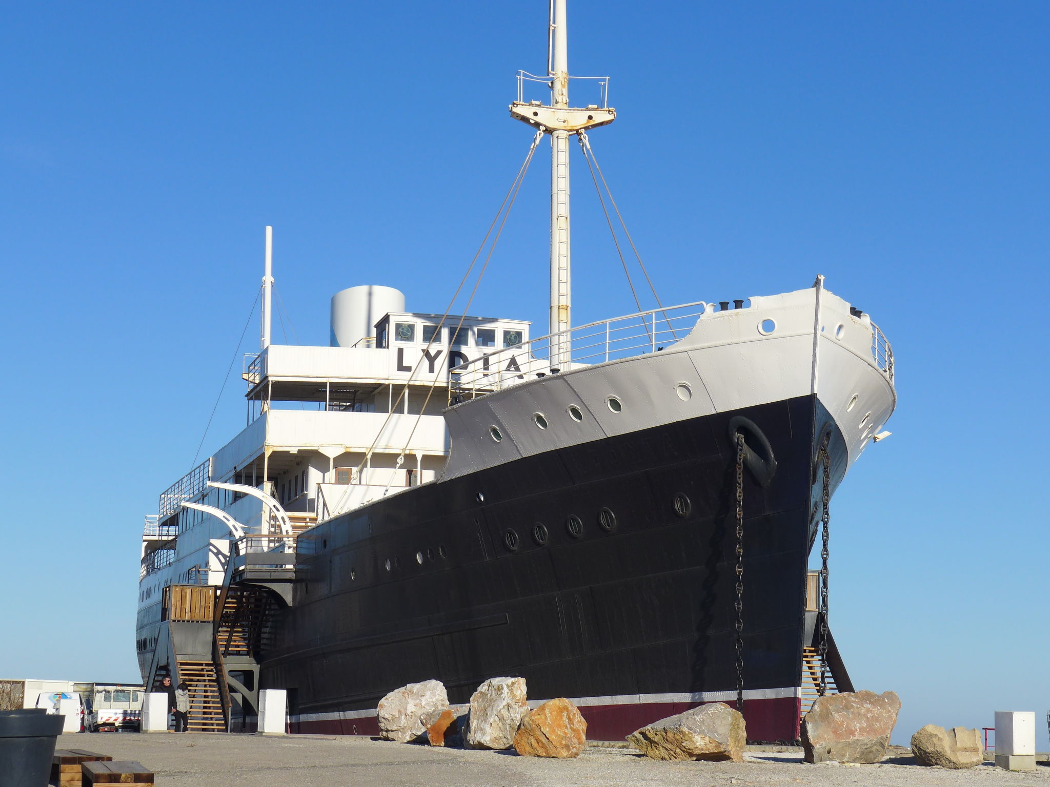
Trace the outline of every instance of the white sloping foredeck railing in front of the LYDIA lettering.
<instances>
[{"instance_id":1,"label":"white sloping foredeck railing in front of the LYDIA lettering","mask_svg":"<svg viewBox=\"0 0 1050 787\"><path fill-rule=\"evenodd\" d=\"M707 309L705 301L653 309L487 353L452 368L449 402L581 366L658 353L688 335Z\"/></svg>"}]
</instances>

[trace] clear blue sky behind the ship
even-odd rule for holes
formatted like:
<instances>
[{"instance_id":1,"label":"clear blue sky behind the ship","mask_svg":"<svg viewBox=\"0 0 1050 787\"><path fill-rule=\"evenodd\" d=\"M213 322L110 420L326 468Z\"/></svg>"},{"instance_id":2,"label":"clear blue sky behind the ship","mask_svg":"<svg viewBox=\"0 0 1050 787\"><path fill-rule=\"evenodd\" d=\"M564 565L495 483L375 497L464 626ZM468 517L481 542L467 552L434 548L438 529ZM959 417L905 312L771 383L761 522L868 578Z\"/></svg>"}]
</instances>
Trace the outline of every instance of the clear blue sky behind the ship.
<instances>
[{"instance_id":1,"label":"clear blue sky behind the ship","mask_svg":"<svg viewBox=\"0 0 1050 787\"><path fill-rule=\"evenodd\" d=\"M894 344L894 435L832 511L855 683L901 695L901 742L1042 718L1050 5L569 13L571 70L613 78L592 141L665 300L823 273ZM353 284L442 311L528 146L506 105L545 23L543 0L4 4L0 677L138 680L142 516L190 468L264 226L302 343ZM633 305L573 166L579 323ZM544 323L546 167L475 313Z\"/></svg>"}]
</instances>

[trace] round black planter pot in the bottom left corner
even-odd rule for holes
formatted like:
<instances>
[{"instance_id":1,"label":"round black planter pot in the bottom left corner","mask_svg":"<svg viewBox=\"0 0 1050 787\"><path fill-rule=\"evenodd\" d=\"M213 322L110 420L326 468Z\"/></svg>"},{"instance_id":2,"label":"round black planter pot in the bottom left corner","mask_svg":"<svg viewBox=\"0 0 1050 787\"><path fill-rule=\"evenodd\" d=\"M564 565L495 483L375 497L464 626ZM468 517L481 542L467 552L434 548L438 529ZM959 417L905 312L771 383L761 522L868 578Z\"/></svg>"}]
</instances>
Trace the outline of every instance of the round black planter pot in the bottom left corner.
<instances>
[{"instance_id":1,"label":"round black planter pot in the bottom left corner","mask_svg":"<svg viewBox=\"0 0 1050 787\"><path fill-rule=\"evenodd\" d=\"M47 787L64 724L43 708L0 710L0 787Z\"/></svg>"}]
</instances>

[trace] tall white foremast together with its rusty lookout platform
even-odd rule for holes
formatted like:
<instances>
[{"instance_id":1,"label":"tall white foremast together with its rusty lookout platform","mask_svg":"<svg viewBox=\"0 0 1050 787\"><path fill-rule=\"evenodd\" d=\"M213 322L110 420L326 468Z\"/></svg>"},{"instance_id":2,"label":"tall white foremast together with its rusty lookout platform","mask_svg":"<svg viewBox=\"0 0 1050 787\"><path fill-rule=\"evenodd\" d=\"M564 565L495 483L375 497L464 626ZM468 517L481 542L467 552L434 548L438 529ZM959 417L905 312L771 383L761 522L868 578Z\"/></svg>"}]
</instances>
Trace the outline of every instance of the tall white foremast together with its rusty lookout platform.
<instances>
[{"instance_id":1,"label":"tall white foremast together with its rusty lookout platform","mask_svg":"<svg viewBox=\"0 0 1050 787\"><path fill-rule=\"evenodd\" d=\"M588 128L605 126L616 118L616 110L589 104L579 109L569 106L568 30L565 22L566 0L549 0L550 18L547 38L547 75L550 104L526 102L525 81L539 78L518 72L518 101L510 105L511 116L550 134L550 333L567 332L571 325L570 243L569 243L569 136ZM601 83L608 85L608 80ZM554 368L567 368L570 361L568 336L550 342L550 363Z\"/></svg>"}]
</instances>

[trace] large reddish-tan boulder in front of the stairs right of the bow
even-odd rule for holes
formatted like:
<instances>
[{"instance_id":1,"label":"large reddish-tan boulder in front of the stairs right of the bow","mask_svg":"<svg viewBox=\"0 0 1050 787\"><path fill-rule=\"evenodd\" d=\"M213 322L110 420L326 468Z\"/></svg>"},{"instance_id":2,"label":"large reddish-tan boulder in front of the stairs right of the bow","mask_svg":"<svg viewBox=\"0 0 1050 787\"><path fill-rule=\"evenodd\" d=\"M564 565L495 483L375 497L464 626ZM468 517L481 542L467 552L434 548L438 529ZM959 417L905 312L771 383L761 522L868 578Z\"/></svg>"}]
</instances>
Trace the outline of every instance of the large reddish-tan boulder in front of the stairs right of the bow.
<instances>
[{"instance_id":1,"label":"large reddish-tan boulder in front of the stairs right of the bow","mask_svg":"<svg viewBox=\"0 0 1050 787\"><path fill-rule=\"evenodd\" d=\"M901 701L894 692L818 697L802 720L807 763L877 763L886 753Z\"/></svg>"}]
</instances>

